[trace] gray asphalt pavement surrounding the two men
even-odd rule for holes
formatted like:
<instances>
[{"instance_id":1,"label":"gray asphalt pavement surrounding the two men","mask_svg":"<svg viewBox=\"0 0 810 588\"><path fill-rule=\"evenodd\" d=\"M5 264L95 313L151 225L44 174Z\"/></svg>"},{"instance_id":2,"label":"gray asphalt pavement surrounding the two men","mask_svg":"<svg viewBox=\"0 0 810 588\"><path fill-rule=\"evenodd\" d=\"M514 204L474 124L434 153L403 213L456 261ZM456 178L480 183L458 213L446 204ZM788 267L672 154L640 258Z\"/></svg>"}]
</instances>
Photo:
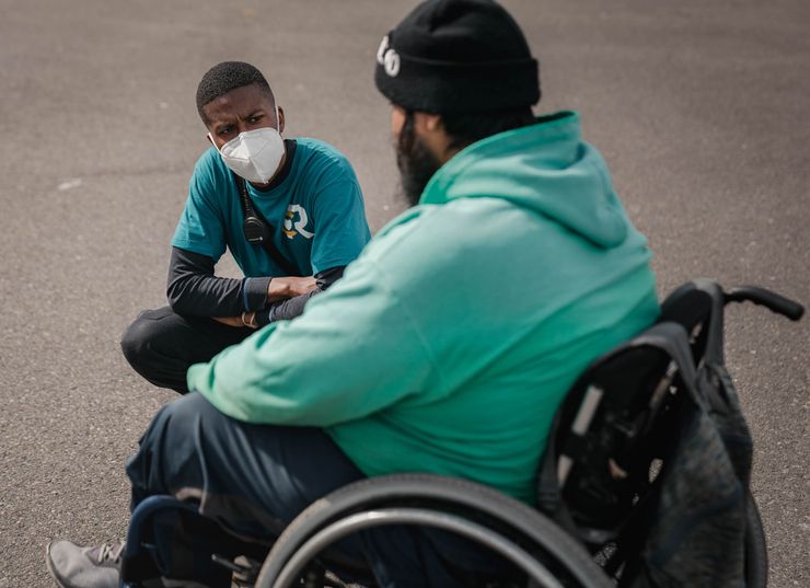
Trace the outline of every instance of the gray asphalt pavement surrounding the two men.
<instances>
[{"instance_id":1,"label":"gray asphalt pavement surrounding the two men","mask_svg":"<svg viewBox=\"0 0 810 588\"><path fill-rule=\"evenodd\" d=\"M810 302L807 0L505 3L541 59L540 109L581 112L661 292L713 276ZM199 78L225 59L264 70L288 136L348 154L379 229L403 205L374 54L412 5L0 0L0 588L51 586L53 538L124 535L124 460L172 393L118 338L165 300L207 147ZM729 312L775 587L810 585L809 341L808 320Z\"/></svg>"}]
</instances>

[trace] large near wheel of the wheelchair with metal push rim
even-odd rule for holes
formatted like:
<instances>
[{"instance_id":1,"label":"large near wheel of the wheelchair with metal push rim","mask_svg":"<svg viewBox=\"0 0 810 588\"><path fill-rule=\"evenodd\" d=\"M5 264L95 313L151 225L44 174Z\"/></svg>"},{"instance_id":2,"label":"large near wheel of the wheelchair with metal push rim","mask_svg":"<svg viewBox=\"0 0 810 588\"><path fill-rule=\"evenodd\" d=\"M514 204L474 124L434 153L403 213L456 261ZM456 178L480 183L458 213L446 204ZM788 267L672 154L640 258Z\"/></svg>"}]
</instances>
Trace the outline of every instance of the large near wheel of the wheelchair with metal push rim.
<instances>
[{"instance_id":1,"label":"large near wheel of the wheelchair with metal push rim","mask_svg":"<svg viewBox=\"0 0 810 588\"><path fill-rule=\"evenodd\" d=\"M298 585L313 563L331 567L334 561L322 554L336 541L389 524L472 540L521 570L532 587L614 587L588 552L539 511L472 482L400 474L350 484L306 508L274 545L256 588Z\"/></svg>"}]
</instances>

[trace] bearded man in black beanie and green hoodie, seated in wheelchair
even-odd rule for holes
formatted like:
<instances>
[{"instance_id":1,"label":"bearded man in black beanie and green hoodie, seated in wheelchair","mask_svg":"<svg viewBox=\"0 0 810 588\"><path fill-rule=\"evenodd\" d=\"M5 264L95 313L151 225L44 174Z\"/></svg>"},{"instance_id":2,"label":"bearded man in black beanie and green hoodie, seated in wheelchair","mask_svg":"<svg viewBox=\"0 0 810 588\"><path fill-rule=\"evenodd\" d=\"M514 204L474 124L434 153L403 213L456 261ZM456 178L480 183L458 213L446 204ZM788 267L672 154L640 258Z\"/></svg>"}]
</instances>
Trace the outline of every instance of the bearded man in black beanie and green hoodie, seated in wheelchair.
<instances>
[{"instance_id":1,"label":"bearded man in black beanie and green hoodie, seated in wheelchair","mask_svg":"<svg viewBox=\"0 0 810 588\"><path fill-rule=\"evenodd\" d=\"M501 7L418 5L382 41L375 82L412 208L300 318L188 370L193 393L158 413L127 463L134 509L173 495L269 545L317 498L395 472L534 505L563 395L657 319L647 241L579 116L533 115L537 61ZM381 586L463 585L445 563L465 546L444 540L392 529L344 549ZM164 564L178 557L157 544ZM121 551L58 541L47 564L65 588L112 588ZM165 575L230 581L206 574Z\"/></svg>"}]
</instances>

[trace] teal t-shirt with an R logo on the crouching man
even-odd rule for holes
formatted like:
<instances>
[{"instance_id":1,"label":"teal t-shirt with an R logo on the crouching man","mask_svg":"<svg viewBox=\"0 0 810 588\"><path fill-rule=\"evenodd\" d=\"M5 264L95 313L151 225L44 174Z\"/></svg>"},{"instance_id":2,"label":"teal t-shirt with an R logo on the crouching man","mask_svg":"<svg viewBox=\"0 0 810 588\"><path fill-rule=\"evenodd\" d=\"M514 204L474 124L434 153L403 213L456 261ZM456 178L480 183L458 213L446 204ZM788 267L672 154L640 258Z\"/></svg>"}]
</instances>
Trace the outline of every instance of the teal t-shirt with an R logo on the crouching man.
<instances>
[{"instance_id":1,"label":"teal t-shirt with an R logo on the crouching man","mask_svg":"<svg viewBox=\"0 0 810 588\"><path fill-rule=\"evenodd\" d=\"M345 155L316 139L296 139L287 176L267 192L247 183L253 206L270 223L274 246L302 276L348 265L371 238L360 185ZM175 247L219 261L228 247L246 277L284 276L261 245L247 242L233 174L216 149L197 161Z\"/></svg>"}]
</instances>

